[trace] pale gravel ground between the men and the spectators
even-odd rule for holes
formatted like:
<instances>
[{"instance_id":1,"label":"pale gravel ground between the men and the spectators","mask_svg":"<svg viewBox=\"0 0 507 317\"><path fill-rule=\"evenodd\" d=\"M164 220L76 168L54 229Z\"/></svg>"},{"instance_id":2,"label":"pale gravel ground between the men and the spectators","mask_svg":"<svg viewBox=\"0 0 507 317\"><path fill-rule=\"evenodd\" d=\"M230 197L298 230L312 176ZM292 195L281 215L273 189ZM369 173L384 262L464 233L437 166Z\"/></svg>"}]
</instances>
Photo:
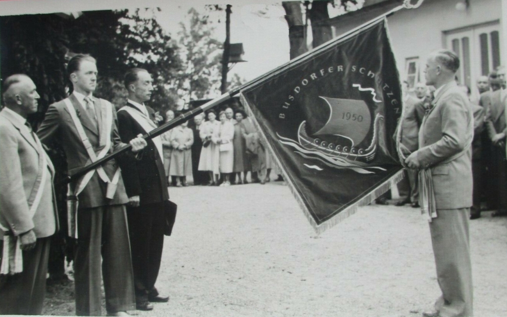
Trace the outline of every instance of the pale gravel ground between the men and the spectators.
<instances>
[{"instance_id":1,"label":"pale gravel ground between the men and the spectators","mask_svg":"<svg viewBox=\"0 0 507 317\"><path fill-rule=\"evenodd\" d=\"M367 206L316 235L280 182L170 188L153 316L420 316L440 295L418 209ZM476 316L507 316L507 218L470 222ZM73 314L71 285L46 314ZM105 312L104 312L105 313Z\"/></svg>"}]
</instances>

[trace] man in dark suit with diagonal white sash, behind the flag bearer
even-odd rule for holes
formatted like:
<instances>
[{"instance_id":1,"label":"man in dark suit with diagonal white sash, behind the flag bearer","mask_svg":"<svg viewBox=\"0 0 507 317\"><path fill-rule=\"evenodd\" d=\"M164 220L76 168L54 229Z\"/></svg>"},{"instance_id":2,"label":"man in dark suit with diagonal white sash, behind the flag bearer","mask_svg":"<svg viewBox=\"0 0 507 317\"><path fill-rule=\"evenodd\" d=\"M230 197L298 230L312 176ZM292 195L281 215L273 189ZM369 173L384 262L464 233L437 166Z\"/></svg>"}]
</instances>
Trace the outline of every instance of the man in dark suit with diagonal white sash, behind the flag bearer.
<instances>
[{"instance_id":1,"label":"man in dark suit with diagonal white sash, behind the flag bearer","mask_svg":"<svg viewBox=\"0 0 507 317\"><path fill-rule=\"evenodd\" d=\"M146 134L163 121L161 116L144 105L153 92L153 79L148 71L133 68L125 74L128 91L127 105L118 111L118 129L123 142L138 134ZM140 160L130 159L123 171L125 189L129 197L127 218L134 270L136 307L152 310L151 302L167 302L155 288L164 245L164 208L169 200L164 171L162 140L148 140Z\"/></svg>"}]
</instances>

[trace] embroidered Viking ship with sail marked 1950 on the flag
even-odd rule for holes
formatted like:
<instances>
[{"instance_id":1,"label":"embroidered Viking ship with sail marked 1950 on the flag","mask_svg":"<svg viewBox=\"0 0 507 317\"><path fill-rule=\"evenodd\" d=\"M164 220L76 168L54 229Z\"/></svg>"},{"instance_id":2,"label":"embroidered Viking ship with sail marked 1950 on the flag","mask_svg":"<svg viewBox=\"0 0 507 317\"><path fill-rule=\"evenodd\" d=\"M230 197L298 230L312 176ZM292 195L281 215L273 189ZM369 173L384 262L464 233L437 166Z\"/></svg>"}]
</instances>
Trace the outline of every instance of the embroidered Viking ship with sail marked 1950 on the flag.
<instances>
[{"instance_id":1,"label":"embroidered Viking ship with sail marked 1950 on the flag","mask_svg":"<svg viewBox=\"0 0 507 317\"><path fill-rule=\"evenodd\" d=\"M306 121L303 121L298 130L301 146L307 150L318 151L350 162L372 161L377 151L379 121L383 119L383 116L380 114L375 116L372 140L368 147L360 147L357 145L363 143L371 129L372 115L368 105L363 100L320 98L330 107L328 122L310 136L306 130ZM329 143L319 138L326 135L340 136L349 144Z\"/></svg>"}]
</instances>

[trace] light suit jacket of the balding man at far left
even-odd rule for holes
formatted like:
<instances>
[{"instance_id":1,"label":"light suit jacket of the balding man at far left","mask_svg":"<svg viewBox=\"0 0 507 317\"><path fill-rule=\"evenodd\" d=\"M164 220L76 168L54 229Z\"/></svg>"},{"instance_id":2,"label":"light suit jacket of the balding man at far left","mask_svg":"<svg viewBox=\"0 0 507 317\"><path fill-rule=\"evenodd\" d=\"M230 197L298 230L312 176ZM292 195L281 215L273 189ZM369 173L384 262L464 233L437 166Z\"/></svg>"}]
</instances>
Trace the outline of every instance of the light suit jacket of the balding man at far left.
<instances>
[{"instance_id":1,"label":"light suit jacket of the balding man at far left","mask_svg":"<svg viewBox=\"0 0 507 317\"><path fill-rule=\"evenodd\" d=\"M0 111L0 147L0 223L15 236L31 229L38 238L54 234L58 230L58 214L53 165L27 127L6 109ZM49 169L45 184L38 180L40 155L46 156L48 166L44 168ZM32 216L28 200L36 182L44 186L44 191ZM3 237L4 232L0 230L0 240Z\"/></svg>"}]
</instances>

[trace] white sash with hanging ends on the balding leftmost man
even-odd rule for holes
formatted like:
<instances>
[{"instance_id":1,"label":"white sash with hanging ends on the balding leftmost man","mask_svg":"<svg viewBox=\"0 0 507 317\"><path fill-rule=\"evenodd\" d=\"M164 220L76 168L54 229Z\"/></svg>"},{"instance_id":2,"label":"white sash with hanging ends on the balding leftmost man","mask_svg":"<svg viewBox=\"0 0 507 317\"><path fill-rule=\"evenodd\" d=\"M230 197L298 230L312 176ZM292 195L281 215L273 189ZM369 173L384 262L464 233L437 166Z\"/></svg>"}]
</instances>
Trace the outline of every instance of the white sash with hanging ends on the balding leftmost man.
<instances>
[{"instance_id":1,"label":"white sash with hanging ends on the balding leftmost man","mask_svg":"<svg viewBox=\"0 0 507 317\"><path fill-rule=\"evenodd\" d=\"M32 188L30 196L28 197L29 216L33 218L35 211L39 208L41 203L42 194L44 192L44 185L48 178L48 162L46 160L46 152L42 147L41 141L37 136L30 132L37 143L39 152L39 174L35 179L35 185ZM37 180L40 180L37 185ZM35 195L34 195L35 193ZM0 224L0 229L4 232L9 231L8 228ZM0 274L15 274L23 271L23 253L21 251L21 239L19 236L4 235L4 250L2 254L2 266L0 267Z\"/></svg>"}]
</instances>

